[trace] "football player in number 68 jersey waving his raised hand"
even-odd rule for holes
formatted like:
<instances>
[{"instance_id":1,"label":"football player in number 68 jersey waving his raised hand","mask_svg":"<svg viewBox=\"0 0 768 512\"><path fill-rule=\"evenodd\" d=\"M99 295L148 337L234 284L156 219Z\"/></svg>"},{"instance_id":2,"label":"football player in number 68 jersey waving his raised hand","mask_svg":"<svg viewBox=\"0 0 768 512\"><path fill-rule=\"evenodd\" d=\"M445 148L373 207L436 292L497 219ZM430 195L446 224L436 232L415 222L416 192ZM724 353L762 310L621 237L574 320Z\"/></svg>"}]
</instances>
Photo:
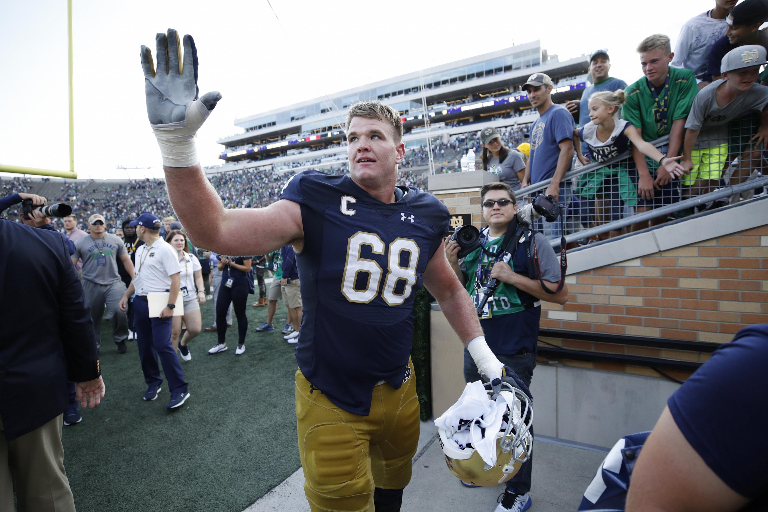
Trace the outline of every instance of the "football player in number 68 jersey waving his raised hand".
<instances>
[{"instance_id":1,"label":"football player in number 68 jersey waving his raised hand","mask_svg":"<svg viewBox=\"0 0 768 512\"><path fill-rule=\"evenodd\" d=\"M419 439L409 359L422 282L467 345L478 372L502 376L472 300L443 248L449 213L432 194L396 187L405 154L397 111L349 109L349 175L304 171L266 208L226 210L200 168L195 134L218 92L197 94L197 51L157 34L157 70L141 47L147 114L174 211L195 246L223 254L296 250L303 321L296 345L296 418L312 510L399 510ZM253 233L258 233L254 236Z\"/></svg>"}]
</instances>

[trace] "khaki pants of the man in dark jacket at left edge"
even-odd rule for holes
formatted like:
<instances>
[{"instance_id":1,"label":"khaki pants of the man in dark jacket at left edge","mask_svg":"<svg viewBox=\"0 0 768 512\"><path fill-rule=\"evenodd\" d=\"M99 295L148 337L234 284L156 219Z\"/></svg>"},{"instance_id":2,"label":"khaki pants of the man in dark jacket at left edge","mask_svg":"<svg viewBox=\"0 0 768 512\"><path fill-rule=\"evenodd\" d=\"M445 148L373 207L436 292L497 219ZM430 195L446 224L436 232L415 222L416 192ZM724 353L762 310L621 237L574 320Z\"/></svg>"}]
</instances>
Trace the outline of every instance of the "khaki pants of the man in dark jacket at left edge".
<instances>
[{"instance_id":1,"label":"khaki pants of the man in dark jacket at left edge","mask_svg":"<svg viewBox=\"0 0 768 512\"><path fill-rule=\"evenodd\" d=\"M18 512L74 512L74 499L64 471L61 425L64 415L41 428L5 441L0 420L0 510Z\"/></svg>"}]
</instances>

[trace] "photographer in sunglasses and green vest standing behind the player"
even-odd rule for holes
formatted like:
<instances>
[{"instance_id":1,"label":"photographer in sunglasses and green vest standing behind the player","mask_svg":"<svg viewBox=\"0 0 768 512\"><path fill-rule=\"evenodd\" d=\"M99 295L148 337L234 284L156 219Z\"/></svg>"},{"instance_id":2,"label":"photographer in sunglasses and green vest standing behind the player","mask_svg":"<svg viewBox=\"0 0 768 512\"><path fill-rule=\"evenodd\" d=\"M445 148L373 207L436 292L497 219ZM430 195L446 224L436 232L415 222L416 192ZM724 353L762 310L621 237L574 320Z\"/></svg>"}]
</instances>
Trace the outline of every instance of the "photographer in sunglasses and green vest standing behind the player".
<instances>
[{"instance_id":1,"label":"photographer in sunglasses and green vest standing behind the player","mask_svg":"<svg viewBox=\"0 0 768 512\"><path fill-rule=\"evenodd\" d=\"M488 227L479 233L479 239L471 236L477 233L472 226L457 230L445 244L445 256L478 307L488 347L530 386L536 367L541 300L564 304L568 301L568 287L560 284L561 264L546 237L541 233L527 235L536 216L531 214L530 206L526 206L528 216L518 216L517 198L507 183L486 183L480 197ZM539 276L533 273L535 269ZM486 289L492 293L485 294ZM480 309L483 302L485 307ZM464 378L466 382L478 380L478 368L466 350ZM508 482L497 512L530 506L531 464L529 458Z\"/></svg>"}]
</instances>

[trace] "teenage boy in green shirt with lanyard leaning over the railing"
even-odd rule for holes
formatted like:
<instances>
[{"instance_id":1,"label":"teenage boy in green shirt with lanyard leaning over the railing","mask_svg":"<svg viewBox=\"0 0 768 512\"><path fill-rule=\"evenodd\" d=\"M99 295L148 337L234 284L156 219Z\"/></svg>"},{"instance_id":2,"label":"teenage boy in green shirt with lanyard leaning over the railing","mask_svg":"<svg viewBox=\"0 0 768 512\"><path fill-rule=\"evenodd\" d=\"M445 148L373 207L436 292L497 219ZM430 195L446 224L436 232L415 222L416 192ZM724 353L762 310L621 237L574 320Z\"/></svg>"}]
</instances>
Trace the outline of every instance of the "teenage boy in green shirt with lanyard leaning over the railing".
<instances>
[{"instance_id":1,"label":"teenage boy in green shirt with lanyard leaning over the railing","mask_svg":"<svg viewBox=\"0 0 768 512\"><path fill-rule=\"evenodd\" d=\"M669 143L659 150L665 156L676 157L683 144L685 120L698 91L696 77L690 69L670 67L674 53L666 35L648 36L637 46L637 53L645 76L624 90L627 101L621 115L641 130L647 142L669 135ZM638 213L680 200L680 180L673 179L636 147L632 148L632 156L637 166ZM651 224L662 222L664 217L657 217ZM634 229L644 227L636 224Z\"/></svg>"}]
</instances>

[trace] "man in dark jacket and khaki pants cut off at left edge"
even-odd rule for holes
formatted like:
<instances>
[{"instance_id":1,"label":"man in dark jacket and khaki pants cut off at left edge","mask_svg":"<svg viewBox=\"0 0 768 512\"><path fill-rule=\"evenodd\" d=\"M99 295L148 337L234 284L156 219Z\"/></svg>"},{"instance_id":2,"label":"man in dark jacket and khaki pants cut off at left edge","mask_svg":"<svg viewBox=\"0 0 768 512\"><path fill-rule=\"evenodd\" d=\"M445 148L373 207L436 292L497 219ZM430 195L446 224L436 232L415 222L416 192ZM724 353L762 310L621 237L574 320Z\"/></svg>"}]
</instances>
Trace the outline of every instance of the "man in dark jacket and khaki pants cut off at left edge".
<instances>
[{"instance_id":1,"label":"man in dark jacket and khaki pants cut off at left edge","mask_svg":"<svg viewBox=\"0 0 768 512\"><path fill-rule=\"evenodd\" d=\"M67 381L91 408L104 382L91 309L59 233L0 220L0 510L71 510ZM45 477L42 477L45 475Z\"/></svg>"}]
</instances>

